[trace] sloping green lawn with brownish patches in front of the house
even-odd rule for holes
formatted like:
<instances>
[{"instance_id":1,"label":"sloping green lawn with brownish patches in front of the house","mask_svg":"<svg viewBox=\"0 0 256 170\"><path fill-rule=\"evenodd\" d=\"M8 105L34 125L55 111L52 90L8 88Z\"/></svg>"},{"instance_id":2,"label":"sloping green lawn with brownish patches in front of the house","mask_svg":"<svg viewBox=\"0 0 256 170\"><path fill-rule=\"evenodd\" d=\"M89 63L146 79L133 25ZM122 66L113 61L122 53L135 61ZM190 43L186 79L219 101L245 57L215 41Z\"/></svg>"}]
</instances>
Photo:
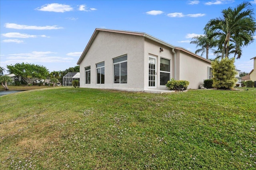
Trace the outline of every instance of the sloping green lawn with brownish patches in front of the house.
<instances>
[{"instance_id":1,"label":"sloping green lawn with brownish patches in front of the house","mask_svg":"<svg viewBox=\"0 0 256 170\"><path fill-rule=\"evenodd\" d=\"M0 97L0 169L255 169L256 88Z\"/></svg>"}]
</instances>

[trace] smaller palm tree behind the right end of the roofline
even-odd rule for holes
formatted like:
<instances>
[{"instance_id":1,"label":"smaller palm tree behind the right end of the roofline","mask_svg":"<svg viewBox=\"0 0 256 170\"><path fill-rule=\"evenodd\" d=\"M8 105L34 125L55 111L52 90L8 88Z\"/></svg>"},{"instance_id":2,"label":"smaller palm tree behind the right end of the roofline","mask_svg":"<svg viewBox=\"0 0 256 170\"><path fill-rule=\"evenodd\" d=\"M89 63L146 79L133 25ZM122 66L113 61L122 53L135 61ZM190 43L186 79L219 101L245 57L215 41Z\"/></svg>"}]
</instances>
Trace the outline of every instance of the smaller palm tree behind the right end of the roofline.
<instances>
[{"instance_id":1,"label":"smaller palm tree behind the right end of the roofline","mask_svg":"<svg viewBox=\"0 0 256 170\"><path fill-rule=\"evenodd\" d=\"M196 44L197 47L202 47L201 49L197 49L195 53L201 53L201 56L206 53L206 59L209 57L209 50L215 51L212 49L213 47L217 46L217 41L214 39L212 32L210 30L205 29L205 35L198 35L193 37L192 39L195 39L194 41L191 41L190 44Z\"/></svg>"}]
</instances>

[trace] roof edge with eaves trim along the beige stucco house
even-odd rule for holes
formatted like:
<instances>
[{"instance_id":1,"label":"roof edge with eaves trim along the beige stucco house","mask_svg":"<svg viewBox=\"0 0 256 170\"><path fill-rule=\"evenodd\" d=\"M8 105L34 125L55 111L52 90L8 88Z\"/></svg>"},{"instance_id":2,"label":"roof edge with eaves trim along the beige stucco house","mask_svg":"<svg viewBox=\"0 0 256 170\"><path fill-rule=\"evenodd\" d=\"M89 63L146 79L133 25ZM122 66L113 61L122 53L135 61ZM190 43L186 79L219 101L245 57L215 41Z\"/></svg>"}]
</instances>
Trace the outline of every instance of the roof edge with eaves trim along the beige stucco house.
<instances>
[{"instance_id":1,"label":"roof edge with eaves trim along the beige stucco house","mask_svg":"<svg viewBox=\"0 0 256 170\"><path fill-rule=\"evenodd\" d=\"M148 38L148 39L151 39L151 40L153 40L153 41L155 41L155 42L157 42L157 43L160 43L160 44L162 44L162 45L165 45L165 46L167 46L167 47L170 47L170 48L172 48L172 49L177 49L177 50L180 50L180 51L184 51L185 53L188 53L188 54L190 54L190 55L193 55L194 57L197 57L197 58L199 58L199 59L202 59L202 60L204 60L204 61L206 61L206 62L208 62L208 63L212 63L212 61L210 61L210 60L208 60L208 59L205 59L205 58L203 58L203 57L201 57L201 56L199 56L199 55L197 55L197 54L195 54L195 53L192 53L191 51L188 51L187 49L184 49L184 48L182 48L182 47L175 47L175 46L173 46L173 45L171 45L171 44L169 44L169 43L166 43L166 42L164 42L164 41L162 41L162 40L160 40L160 39L158 39L158 38L156 38L156 37L153 37L153 36L151 36L151 35L149 35L149 34L147 34L147 33L135 32L135 31L122 31L122 30L115 30L115 29L101 29L101 28L96 28L96 29L94 30L94 33L92 34L92 37L90 38L88 44L86 45L86 47L85 47L85 49L84 49L82 55L81 55L80 58L78 59L78 62L77 62L78 65L79 65L79 64L82 62L82 60L84 59L86 53L88 52L90 46L92 45L94 39L96 38L96 36L98 35L98 33L99 33L100 31L113 32L113 33L123 33L123 34L128 34L128 35L143 36L143 37L146 37L146 38Z\"/></svg>"}]
</instances>

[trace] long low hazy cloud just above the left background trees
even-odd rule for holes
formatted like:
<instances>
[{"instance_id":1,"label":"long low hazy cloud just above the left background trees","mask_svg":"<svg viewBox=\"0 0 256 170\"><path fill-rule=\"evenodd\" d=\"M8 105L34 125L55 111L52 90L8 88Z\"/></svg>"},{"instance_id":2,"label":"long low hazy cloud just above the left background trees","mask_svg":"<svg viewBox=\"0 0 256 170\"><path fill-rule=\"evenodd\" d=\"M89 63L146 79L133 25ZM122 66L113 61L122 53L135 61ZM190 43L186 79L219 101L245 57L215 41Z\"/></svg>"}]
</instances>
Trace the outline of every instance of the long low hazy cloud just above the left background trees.
<instances>
[{"instance_id":1,"label":"long low hazy cloud just above the left background trees","mask_svg":"<svg viewBox=\"0 0 256 170\"><path fill-rule=\"evenodd\" d=\"M74 60L72 57L50 56L51 51L32 51L31 53L10 54L5 63L67 63Z\"/></svg>"}]
</instances>

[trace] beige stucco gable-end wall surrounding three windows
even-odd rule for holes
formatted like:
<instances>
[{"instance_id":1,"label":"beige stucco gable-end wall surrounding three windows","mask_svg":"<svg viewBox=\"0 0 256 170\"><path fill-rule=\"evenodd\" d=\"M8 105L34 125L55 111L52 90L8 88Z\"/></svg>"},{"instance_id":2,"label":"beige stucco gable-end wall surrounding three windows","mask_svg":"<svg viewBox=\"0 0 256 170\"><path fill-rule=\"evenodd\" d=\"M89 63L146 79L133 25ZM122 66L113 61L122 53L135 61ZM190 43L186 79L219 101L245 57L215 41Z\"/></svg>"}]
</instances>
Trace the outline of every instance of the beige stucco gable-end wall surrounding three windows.
<instances>
[{"instance_id":1,"label":"beige stucco gable-end wall surrounding three windows","mask_svg":"<svg viewBox=\"0 0 256 170\"><path fill-rule=\"evenodd\" d=\"M127 54L127 84L114 84L113 59ZM105 62L105 83L96 83L96 64ZM85 84L84 67L91 66L91 84ZM144 37L99 31L80 63L80 87L144 90Z\"/></svg>"}]
</instances>

